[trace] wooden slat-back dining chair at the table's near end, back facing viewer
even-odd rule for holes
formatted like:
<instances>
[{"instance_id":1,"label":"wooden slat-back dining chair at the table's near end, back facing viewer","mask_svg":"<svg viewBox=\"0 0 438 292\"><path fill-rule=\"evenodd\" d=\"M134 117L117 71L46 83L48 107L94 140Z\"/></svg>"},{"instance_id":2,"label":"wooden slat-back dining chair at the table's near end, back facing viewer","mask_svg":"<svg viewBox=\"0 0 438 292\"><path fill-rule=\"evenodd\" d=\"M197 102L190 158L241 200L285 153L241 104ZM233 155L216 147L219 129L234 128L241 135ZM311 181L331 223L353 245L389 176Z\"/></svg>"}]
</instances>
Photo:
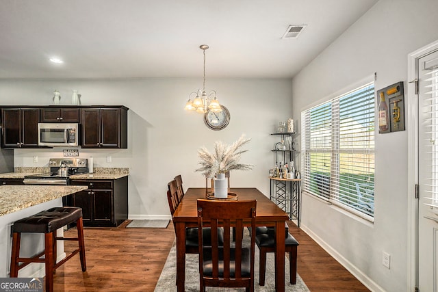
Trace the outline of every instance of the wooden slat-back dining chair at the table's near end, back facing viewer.
<instances>
[{"instance_id":1,"label":"wooden slat-back dining chair at the table's near end, back facing viewer","mask_svg":"<svg viewBox=\"0 0 438 292\"><path fill-rule=\"evenodd\" d=\"M255 230L256 200L218 201L198 199L198 245L200 291L205 287L245 287L254 291L255 233L249 246L242 246L244 222ZM211 226L211 246L203 241L204 226ZM235 241L231 228L235 227ZM218 233L223 228L224 244L218 245Z\"/></svg>"}]
</instances>

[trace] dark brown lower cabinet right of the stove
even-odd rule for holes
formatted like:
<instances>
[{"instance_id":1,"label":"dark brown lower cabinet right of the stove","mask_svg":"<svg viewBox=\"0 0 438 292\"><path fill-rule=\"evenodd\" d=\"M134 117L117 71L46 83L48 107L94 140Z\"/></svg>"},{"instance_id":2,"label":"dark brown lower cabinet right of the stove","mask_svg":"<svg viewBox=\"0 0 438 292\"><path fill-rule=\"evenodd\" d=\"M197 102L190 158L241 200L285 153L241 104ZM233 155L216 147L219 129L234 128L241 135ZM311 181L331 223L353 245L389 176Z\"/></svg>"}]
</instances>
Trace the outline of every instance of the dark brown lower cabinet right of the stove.
<instances>
[{"instance_id":1,"label":"dark brown lower cabinet right of the stove","mask_svg":"<svg viewBox=\"0 0 438 292\"><path fill-rule=\"evenodd\" d=\"M115 227L128 219L127 176L115 180L72 179L70 185L88 186L64 200L64 206L82 208L84 226Z\"/></svg>"}]
</instances>

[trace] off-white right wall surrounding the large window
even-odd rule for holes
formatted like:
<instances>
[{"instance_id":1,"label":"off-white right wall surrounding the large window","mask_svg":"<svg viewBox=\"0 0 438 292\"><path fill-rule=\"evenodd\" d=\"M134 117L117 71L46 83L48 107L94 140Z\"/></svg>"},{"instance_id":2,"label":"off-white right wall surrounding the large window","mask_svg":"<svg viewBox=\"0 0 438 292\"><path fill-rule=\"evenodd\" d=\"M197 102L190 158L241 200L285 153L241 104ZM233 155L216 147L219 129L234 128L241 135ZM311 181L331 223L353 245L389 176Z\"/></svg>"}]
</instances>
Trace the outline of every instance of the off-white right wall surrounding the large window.
<instances>
[{"instance_id":1,"label":"off-white right wall surrounding the large window","mask_svg":"<svg viewBox=\"0 0 438 292\"><path fill-rule=\"evenodd\" d=\"M407 92L407 55L437 40L437 27L436 0L379 1L294 77L293 116L374 72L376 90L404 81ZM407 131L376 133L374 224L302 196L302 228L373 291L408 291L407 156Z\"/></svg>"}]
</instances>

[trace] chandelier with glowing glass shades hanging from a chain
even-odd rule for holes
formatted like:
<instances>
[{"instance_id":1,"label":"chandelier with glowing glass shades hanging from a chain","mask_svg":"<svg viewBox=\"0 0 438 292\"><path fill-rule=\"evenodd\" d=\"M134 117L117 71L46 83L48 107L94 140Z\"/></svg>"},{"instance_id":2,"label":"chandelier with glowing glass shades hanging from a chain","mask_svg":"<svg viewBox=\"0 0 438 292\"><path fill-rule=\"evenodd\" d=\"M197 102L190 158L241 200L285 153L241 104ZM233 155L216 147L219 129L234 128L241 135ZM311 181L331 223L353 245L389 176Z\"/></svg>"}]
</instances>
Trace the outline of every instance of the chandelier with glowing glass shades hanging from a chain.
<instances>
[{"instance_id":1,"label":"chandelier with glowing glass shades hanging from a chain","mask_svg":"<svg viewBox=\"0 0 438 292\"><path fill-rule=\"evenodd\" d=\"M205 92L205 50L209 47L207 44L201 44L199 46L204 53L204 83L203 90L198 89L196 92L192 92L189 94L189 100L185 104L184 109L189 111L196 111L200 114L205 114L208 110L219 112L222 111L220 107L218 98L216 97L216 91L211 90L209 94ZM192 97L194 97L192 101Z\"/></svg>"}]
</instances>

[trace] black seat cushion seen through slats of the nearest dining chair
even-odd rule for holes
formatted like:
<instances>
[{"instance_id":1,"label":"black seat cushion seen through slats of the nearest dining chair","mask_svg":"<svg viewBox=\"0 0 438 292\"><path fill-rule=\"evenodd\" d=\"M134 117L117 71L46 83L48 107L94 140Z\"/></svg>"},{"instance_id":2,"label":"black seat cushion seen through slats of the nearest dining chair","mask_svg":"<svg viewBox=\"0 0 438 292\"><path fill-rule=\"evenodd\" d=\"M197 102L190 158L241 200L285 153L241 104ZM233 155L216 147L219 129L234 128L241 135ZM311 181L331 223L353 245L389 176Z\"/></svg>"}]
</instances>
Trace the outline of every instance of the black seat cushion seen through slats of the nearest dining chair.
<instances>
[{"instance_id":1,"label":"black seat cushion seen through slats of the nearest dining chair","mask_svg":"<svg viewBox=\"0 0 438 292\"><path fill-rule=\"evenodd\" d=\"M224 249L219 248L219 258L224 258ZM231 248L231 261L230 261L230 276L235 277L235 262L234 262L235 250ZM204 276L211 277L213 274L213 265L211 264L211 248L204 248ZM250 248L242 248L242 277L250 276ZM219 261L219 277L224 275L224 263Z\"/></svg>"}]
</instances>

